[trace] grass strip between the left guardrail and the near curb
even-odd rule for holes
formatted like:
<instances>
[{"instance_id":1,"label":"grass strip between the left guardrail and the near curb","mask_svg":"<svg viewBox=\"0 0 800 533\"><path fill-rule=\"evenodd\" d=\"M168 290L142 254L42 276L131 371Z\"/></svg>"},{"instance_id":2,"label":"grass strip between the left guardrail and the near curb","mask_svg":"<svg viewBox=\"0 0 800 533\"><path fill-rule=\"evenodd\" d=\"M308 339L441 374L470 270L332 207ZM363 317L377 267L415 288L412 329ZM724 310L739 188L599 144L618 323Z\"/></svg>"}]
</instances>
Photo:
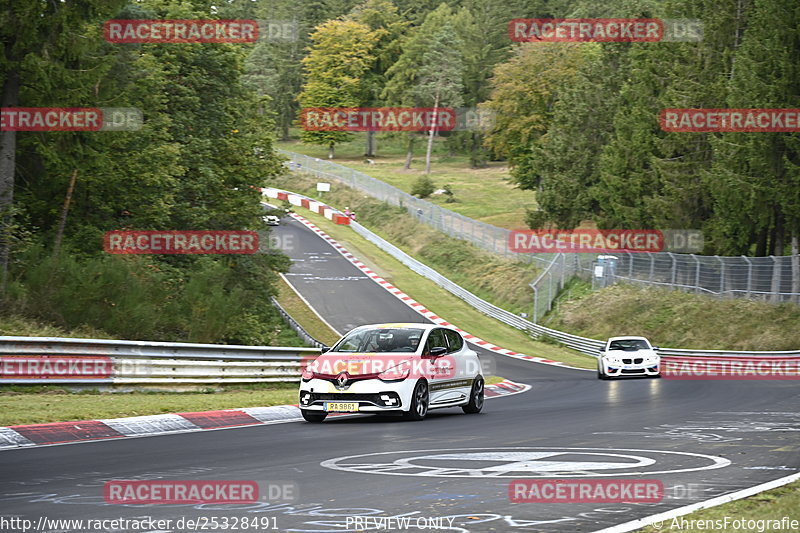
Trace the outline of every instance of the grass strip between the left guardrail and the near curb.
<instances>
[{"instance_id":1,"label":"grass strip between the left guardrail and the near curb","mask_svg":"<svg viewBox=\"0 0 800 533\"><path fill-rule=\"evenodd\" d=\"M0 389L0 426L262 407L297 403L297 383L227 386L222 392L72 392Z\"/></svg>"}]
</instances>

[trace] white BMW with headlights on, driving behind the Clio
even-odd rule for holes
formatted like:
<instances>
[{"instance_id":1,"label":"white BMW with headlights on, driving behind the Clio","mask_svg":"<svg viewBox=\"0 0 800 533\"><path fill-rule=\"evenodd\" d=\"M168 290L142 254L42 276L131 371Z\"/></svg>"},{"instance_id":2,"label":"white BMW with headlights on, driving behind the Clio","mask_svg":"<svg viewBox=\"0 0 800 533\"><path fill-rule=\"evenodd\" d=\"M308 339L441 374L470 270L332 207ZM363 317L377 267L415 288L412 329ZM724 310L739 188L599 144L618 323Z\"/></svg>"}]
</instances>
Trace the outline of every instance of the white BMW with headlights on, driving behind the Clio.
<instances>
[{"instance_id":1,"label":"white BMW with headlights on, driving behind the Clio","mask_svg":"<svg viewBox=\"0 0 800 533\"><path fill-rule=\"evenodd\" d=\"M598 379L661 376L661 357L644 337L612 337L597 358Z\"/></svg>"}]
</instances>

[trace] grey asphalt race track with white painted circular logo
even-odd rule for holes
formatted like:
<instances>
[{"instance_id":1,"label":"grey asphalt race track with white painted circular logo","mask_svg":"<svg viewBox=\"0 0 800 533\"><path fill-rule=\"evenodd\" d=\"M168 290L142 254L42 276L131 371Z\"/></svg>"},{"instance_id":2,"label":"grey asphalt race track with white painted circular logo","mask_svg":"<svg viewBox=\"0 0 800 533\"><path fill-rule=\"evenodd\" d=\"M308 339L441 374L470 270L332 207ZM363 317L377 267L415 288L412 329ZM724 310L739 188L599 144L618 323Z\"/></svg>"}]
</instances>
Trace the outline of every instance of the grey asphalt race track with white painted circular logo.
<instances>
[{"instance_id":1,"label":"grey asphalt race track with white painted circular logo","mask_svg":"<svg viewBox=\"0 0 800 533\"><path fill-rule=\"evenodd\" d=\"M424 320L298 222L274 231L296 261L289 281L339 331ZM0 510L34 522L269 517L275 529L294 532L356 531L356 516L409 518L404 529L393 522L391 529L360 528L366 531L596 531L800 470L796 381L605 382L593 372L482 357L495 358L498 375L533 388L492 399L479 415L446 409L423 422L347 416L321 425L5 451ZM509 483L531 478L656 479L665 497L660 503L510 502ZM299 498L107 504L103 484L115 479L285 482L297 486Z\"/></svg>"}]
</instances>

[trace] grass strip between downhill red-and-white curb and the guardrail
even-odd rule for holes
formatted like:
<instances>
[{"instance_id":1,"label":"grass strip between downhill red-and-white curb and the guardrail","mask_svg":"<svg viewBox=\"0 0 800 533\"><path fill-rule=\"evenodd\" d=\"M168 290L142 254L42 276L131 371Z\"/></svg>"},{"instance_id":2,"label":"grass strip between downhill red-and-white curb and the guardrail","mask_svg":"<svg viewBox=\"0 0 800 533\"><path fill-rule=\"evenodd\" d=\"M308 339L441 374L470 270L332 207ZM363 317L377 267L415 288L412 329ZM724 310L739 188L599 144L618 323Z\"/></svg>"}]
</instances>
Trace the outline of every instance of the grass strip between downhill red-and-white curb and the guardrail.
<instances>
[{"instance_id":1,"label":"grass strip between downhill red-and-white curb and the guardrail","mask_svg":"<svg viewBox=\"0 0 800 533\"><path fill-rule=\"evenodd\" d=\"M581 368L594 368L595 360L592 357L560 346L536 342L525 333L473 309L432 281L415 274L348 226L338 226L325 217L315 215L305 209L298 212L339 241L342 246L364 261L381 277L424 304L437 315L445 317L448 322L503 348L563 361Z\"/></svg>"}]
</instances>

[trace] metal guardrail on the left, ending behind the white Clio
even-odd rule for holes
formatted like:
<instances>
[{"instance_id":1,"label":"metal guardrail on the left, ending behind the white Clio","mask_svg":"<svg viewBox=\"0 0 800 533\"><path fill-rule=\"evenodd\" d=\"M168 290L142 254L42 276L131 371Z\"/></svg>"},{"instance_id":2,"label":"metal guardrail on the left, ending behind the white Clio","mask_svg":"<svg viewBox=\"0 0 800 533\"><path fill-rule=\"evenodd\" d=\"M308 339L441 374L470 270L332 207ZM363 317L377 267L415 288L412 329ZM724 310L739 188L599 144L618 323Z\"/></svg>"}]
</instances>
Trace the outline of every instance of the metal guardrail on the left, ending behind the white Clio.
<instances>
[{"instance_id":1,"label":"metal guardrail on the left, ending behind the white Clio","mask_svg":"<svg viewBox=\"0 0 800 533\"><path fill-rule=\"evenodd\" d=\"M302 361L319 355L316 348L192 344L177 342L0 336L0 359L6 364L58 357L97 361L102 375L9 376L0 384L221 384L295 381ZM55 366L55 365L52 365ZM0 367L2 368L2 367Z\"/></svg>"}]
</instances>

